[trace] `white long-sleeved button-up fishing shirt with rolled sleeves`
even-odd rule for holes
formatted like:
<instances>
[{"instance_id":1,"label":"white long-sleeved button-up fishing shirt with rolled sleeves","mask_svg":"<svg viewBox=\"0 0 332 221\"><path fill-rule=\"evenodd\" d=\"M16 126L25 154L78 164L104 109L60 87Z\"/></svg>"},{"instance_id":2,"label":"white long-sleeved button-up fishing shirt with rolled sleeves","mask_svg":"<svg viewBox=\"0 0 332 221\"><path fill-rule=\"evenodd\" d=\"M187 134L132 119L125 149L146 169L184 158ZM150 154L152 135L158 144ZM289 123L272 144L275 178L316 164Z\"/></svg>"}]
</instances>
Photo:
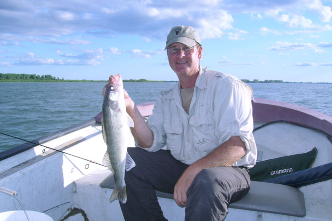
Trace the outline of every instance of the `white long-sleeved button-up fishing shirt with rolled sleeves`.
<instances>
[{"instance_id":1,"label":"white long-sleeved button-up fishing shirt with rolled sleeves","mask_svg":"<svg viewBox=\"0 0 332 221\"><path fill-rule=\"evenodd\" d=\"M233 166L251 168L257 156L251 99L249 85L234 76L200 67L189 115L182 108L180 83L161 92L148 119L153 145L145 149L155 152L166 145L175 159L192 164L232 136L239 136L247 152Z\"/></svg>"}]
</instances>

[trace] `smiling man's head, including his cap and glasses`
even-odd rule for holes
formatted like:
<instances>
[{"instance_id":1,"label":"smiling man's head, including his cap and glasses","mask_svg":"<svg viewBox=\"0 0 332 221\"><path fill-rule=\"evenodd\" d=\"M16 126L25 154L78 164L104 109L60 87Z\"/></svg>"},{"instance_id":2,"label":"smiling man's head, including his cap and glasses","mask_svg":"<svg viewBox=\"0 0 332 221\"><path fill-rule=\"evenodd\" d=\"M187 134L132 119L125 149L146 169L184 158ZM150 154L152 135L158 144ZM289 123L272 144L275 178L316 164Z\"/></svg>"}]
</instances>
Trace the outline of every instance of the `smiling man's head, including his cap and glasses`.
<instances>
[{"instance_id":1,"label":"smiling man's head, including his cap and glasses","mask_svg":"<svg viewBox=\"0 0 332 221\"><path fill-rule=\"evenodd\" d=\"M202 58L203 47L200 38L190 26L173 27L166 41L169 66L178 78L198 76L199 61Z\"/></svg>"}]
</instances>

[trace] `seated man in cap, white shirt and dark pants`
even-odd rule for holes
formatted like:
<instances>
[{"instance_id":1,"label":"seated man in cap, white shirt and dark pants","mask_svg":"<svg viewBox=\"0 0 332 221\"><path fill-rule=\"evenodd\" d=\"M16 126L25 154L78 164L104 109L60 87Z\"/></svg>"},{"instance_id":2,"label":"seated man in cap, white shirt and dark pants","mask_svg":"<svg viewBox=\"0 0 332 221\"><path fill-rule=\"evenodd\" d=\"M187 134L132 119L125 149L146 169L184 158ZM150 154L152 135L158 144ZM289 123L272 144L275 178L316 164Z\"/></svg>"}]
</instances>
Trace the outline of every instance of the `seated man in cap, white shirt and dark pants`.
<instances>
[{"instance_id":1,"label":"seated man in cap, white shirt and dark pants","mask_svg":"<svg viewBox=\"0 0 332 221\"><path fill-rule=\"evenodd\" d=\"M186 207L185 221L221 221L228 205L249 191L248 168L257 155L252 90L231 75L200 67L203 47L190 26L173 27L166 50L179 83L161 93L148 123L125 92L141 148L128 148L136 167L125 174L127 203L120 203L121 210L126 221L166 220L159 190Z\"/></svg>"}]
</instances>

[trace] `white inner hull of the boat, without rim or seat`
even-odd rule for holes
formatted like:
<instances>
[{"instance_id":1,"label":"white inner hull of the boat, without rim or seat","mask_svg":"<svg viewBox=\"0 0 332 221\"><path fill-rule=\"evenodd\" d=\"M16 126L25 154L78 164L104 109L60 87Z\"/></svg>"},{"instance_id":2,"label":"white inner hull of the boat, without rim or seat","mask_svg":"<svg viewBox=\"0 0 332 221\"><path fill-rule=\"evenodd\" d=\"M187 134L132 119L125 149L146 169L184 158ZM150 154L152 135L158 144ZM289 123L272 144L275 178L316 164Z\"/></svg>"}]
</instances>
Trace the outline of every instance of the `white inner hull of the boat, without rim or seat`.
<instances>
[{"instance_id":1,"label":"white inner hull of the boat, without rim or seat","mask_svg":"<svg viewBox=\"0 0 332 221\"><path fill-rule=\"evenodd\" d=\"M255 127L265 123L256 121ZM331 135L320 130L277 122L255 130L254 137L258 150L262 151L260 160L304 153L316 147L318 156L313 167L332 161ZM130 140L134 146L133 138ZM100 124L94 123L43 145L97 163L102 162L107 148L102 139ZM45 147L35 146L2 159L0 187L16 191L26 210L43 212L54 221L123 220L118 202L108 201L112 189L99 186L111 173L106 167L47 148L43 153L44 149ZM301 187L299 190L304 194L304 217L261 212L259 209L235 209L230 205L226 221L331 220L332 180ZM159 202L166 219L184 220L184 208L178 207L172 199L159 197ZM17 200L0 193L0 213L14 210L22 210ZM73 210L76 214L71 213Z\"/></svg>"}]
</instances>

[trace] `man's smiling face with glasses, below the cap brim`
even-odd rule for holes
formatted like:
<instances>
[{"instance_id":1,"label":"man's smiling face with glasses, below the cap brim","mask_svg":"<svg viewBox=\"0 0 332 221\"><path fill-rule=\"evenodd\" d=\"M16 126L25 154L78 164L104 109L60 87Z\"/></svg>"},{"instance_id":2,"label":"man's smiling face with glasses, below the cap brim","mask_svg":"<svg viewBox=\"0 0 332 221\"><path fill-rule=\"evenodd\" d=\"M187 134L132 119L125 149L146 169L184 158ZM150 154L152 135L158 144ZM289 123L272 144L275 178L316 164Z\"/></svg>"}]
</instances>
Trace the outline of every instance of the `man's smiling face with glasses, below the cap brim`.
<instances>
[{"instance_id":1,"label":"man's smiling face with glasses, below the cap brim","mask_svg":"<svg viewBox=\"0 0 332 221\"><path fill-rule=\"evenodd\" d=\"M168 48L176 47L183 48L186 45L182 43L173 43ZM167 51L169 66L176 73L178 77L186 75L191 76L199 71L199 61L202 58L203 48L200 46L194 47L189 53L179 50L175 54Z\"/></svg>"}]
</instances>

